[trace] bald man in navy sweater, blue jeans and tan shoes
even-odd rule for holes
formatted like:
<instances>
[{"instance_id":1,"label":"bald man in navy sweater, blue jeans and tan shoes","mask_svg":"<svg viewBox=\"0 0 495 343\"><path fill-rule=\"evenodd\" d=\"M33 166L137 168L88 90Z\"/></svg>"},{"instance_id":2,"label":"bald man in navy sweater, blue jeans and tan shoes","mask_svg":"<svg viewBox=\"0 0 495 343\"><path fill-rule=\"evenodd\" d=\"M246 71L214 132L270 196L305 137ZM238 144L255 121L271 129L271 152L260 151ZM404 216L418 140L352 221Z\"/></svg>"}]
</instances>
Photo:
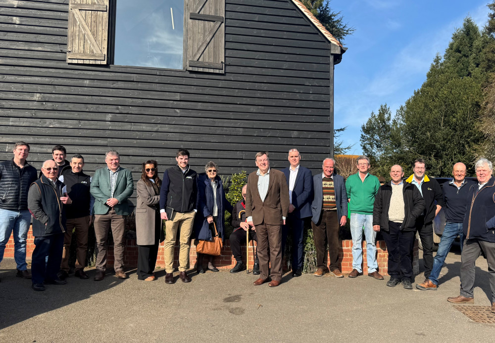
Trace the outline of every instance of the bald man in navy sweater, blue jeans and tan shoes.
<instances>
[{"instance_id":1,"label":"bald man in navy sweater, blue jeans and tan shoes","mask_svg":"<svg viewBox=\"0 0 495 343\"><path fill-rule=\"evenodd\" d=\"M438 245L437 255L435 255L433 260L433 269L430 277L425 282L416 285L416 288L419 290L437 290L440 271L450 251L450 247L457 236L460 236L462 252L462 245L464 243L462 222L466 214L466 205L469 203L467 195L475 182L466 180L466 166L464 163L456 163L452 169L452 175L454 175L454 178L451 181L446 181L442 187L446 219L444 233Z\"/></svg>"}]
</instances>

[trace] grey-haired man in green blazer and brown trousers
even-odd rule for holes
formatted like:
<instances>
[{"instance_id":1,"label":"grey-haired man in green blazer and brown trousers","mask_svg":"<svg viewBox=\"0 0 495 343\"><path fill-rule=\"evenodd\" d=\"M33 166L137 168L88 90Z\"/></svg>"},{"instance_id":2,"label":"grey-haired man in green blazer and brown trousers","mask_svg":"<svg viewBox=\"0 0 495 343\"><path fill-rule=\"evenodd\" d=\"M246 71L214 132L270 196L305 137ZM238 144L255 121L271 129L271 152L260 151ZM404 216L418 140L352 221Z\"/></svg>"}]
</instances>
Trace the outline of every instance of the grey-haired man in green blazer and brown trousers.
<instances>
[{"instance_id":1,"label":"grey-haired man in green blazer and brown trousers","mask_svg":"<svg viewBox=\"0 0 495 343\"><path fill-rule=\"evenodd\" d=\"M95 197L95 235L98 247L96 257L95 281L103 280L106 270L106 251L108 230L112 228L113 267L119 279L126 279L124 273L124 215L128 215L127 199L134 191L131 171L120 167L120 155L110 150L105 155L106 168L95 172L90 186L90 192Z\"/></svg>"}]
</instances>

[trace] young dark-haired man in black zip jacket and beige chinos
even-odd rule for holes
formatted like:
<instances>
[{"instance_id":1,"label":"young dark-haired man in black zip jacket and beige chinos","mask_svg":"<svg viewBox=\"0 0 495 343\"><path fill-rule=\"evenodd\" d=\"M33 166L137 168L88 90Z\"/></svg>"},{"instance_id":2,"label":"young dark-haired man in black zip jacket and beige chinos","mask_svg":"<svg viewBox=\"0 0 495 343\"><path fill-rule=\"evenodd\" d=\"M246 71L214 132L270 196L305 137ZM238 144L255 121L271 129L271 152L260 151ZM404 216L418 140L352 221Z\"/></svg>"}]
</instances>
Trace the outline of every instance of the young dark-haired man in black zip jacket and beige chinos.
<instances>
[{"instance_id":1,"label":"young dark-haired man in black zip jacket and beige chinos","mask_svg":"<svg viewBox=\"0 0 495 343\"><path fill-rule=\"evenodd\" d=\"M189 263L189 238L193 232L198 186L196 172L189 166L189 151L179 149L175 157L177 166L163 173L160 189L160 216L165 220L165 282L174 283L174 246L180 230L179 271L182 282L191 282L186 274Z\"/></svg>"}]
</instances>

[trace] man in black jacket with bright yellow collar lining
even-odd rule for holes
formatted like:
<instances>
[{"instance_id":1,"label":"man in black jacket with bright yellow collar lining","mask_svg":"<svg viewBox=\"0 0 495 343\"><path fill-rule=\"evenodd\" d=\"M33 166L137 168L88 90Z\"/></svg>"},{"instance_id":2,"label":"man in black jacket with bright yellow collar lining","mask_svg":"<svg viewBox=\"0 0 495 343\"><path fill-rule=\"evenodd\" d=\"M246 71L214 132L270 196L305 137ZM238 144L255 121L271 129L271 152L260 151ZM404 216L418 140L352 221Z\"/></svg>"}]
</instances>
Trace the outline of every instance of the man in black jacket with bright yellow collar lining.
<instances>
[{"instance_id":1,"label":"man in black jacket with bright yellow collar lining","mask_svg":"<svg viewBox=\"0 0 495 343\"><path fill-rule=\"evenodd\" d=\"M426 162L423 159L414 161L413 174L406 182L418 187L419 192L425 199L425 211L416 219L416 230L418 231L421 245L423 247L423 264L425 266L425 281L430 277L433 268L433 219L444 206L442 189L437 180L429 178L426 172Z\"/></svg>"}]
</instances>

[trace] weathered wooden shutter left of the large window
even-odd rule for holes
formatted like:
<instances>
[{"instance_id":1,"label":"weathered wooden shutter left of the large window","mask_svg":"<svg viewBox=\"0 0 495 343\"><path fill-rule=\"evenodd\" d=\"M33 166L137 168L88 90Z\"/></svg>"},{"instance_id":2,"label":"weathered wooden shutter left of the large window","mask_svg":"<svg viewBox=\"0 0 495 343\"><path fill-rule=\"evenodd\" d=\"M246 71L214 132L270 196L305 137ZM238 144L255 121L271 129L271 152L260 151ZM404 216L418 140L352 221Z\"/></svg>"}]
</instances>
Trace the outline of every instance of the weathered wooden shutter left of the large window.
<instances>
[{"instance_id":1,"label":"weathered wooden shutter left of the large window","mask_svg":"<svg viewBox=\"0 0 495 343\"><path fill-rule=\"evenodd\" d=\"M70 0L67 63L107 64L109 0Z\"/></svg>"}]
</instances>

